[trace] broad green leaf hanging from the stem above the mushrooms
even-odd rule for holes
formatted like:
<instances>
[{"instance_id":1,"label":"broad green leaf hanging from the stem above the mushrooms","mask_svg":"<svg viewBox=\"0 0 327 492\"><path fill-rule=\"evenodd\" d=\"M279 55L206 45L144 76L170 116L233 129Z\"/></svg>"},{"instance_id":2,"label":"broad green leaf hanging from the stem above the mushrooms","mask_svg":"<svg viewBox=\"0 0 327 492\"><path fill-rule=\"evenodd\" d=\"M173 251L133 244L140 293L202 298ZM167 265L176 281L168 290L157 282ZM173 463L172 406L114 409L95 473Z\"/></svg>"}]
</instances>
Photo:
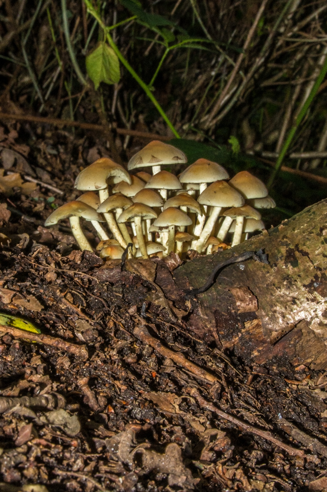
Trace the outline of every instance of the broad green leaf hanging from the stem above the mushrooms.
<instances>
[{"instance_id":1,"label":"broad green leaf hanging from the stem above the mushrooms","mask_svg":"<svg viewBox=\"0 0 327 492\"><path fill-rule=\"evenodd\" d=\"M98 89L100 82L116 84L120 79L119 60L105 41L100 42L86 57L86 70L94 83L95 90Z\"/></svg>"}]
</instances>

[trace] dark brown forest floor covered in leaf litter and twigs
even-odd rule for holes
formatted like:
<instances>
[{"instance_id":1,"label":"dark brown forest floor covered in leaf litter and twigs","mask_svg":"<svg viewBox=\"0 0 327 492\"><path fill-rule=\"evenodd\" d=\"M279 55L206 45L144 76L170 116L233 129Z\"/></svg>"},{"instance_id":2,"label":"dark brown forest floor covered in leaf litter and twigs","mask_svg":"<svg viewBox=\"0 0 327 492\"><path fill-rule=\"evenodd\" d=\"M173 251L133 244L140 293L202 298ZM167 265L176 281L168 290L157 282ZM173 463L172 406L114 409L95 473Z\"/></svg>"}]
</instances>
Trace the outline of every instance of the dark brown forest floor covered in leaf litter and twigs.
<instances>
[{"instance_id":1,"label":"dark brown forest floor covered in leaf litter and twigs","mask_svg":"<svg viewBox=\"0 0 327 492\"><path fill-rule=\"evenodd\" d=\"M42 335L33 343L0 327L0 490L327 488L327 374L282 357L254 365L195 338L174 256L105 263L79 251L68 221L44 228L106 148L21 131L33 146L3 133L2 166L44 184L1 195L11 243L1 240L0 311Z\"/></svg>"}]
</instances>

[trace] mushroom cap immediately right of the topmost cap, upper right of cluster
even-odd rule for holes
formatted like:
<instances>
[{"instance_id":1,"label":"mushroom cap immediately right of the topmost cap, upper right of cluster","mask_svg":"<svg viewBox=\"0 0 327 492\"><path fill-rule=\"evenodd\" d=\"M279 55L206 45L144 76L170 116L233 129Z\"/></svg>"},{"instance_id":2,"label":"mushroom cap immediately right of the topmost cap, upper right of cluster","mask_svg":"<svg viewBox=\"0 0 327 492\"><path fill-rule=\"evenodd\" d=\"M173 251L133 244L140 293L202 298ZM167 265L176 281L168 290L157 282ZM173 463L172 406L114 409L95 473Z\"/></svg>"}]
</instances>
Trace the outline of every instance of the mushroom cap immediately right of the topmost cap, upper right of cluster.
<instances>
[{"instance_id":1,"label":"mushroom cap immediately right of the topmost cap, upper right of cluster","mask_svg":"<svg viewBox=\"0 0 327 492\"><path fill-rule=\"evenodd\" d=\"M197 159L179 177L181 183L213 183L228 180L226 169L217 162L208 159Z\"/></svg>"}]
</instances>

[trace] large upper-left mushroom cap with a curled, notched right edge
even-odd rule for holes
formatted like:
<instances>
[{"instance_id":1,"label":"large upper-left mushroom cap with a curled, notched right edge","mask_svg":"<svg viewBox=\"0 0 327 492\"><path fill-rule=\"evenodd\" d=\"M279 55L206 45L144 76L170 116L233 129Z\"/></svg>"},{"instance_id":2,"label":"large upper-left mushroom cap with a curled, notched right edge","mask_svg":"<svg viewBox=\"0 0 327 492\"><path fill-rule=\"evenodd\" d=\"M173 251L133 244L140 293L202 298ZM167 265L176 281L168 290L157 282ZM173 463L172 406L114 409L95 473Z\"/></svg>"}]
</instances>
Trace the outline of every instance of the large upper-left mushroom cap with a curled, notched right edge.
<instances>
[{"instance_id":1,"label":"large upper-left mushroom cap with a curled, notched right edge","mask_svg":"<svg viewBox=\"0 0 327 492\"><path fill-rule=\"evenodd\" d=\"M102 157L80 172L74 187L85 191L105 189L110 178L113 183L120 183L121 181L132 183L130 175L123 166L116 164L108 157Z\"/></svg>"}]
</instances>

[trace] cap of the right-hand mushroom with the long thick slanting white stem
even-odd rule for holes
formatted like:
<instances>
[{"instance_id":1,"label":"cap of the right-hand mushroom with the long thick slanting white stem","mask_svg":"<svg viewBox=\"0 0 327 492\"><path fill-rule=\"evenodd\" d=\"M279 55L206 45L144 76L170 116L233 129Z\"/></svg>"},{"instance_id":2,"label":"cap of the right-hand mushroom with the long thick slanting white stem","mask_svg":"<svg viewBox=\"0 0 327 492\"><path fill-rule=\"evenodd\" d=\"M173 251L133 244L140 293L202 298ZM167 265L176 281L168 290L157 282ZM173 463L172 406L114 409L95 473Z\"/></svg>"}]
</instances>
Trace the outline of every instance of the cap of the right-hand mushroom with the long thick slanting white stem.
<instances>
[{"instance_id":1,"label":"cap of the right-hand mushroom with the long thick slanting white stem","mask_svg":"<svg viewBox=\"0 0 327 492\"><path fill-rule=\"evenodd\" d=\"M245 202L243 196L225 181L210 184L202 191L197 201L213 207L241 207Z\"/></svg>"}]
</instances>

